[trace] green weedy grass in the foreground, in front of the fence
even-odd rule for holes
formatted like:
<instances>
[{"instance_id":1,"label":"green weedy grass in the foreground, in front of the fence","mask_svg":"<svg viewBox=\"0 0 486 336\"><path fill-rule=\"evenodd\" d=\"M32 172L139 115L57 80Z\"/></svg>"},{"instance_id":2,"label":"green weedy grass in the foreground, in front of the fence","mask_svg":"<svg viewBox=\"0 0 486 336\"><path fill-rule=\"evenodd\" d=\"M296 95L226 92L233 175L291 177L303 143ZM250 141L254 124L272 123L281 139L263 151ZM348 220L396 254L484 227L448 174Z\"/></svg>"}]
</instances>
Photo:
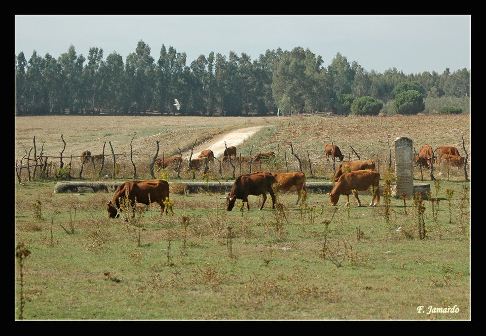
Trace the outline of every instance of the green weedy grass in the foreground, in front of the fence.
<instances>
[{"instance_id":1,"label":"green weedy grass in the foreground, in front of the fence","mask_svg":"<svg viewBox=\"0 0 486 336\"><path fill-rule=\"evenodd\" d=\"M462 185L441 182L439 197L445 198L446 188L455 190L455 213ZM383 206L352 205L348 213L345 199L332 207L327 195L310 194L316 215L310 224L308 215L302 223L295 194L285 194L280 200L288 222L279 234L270 199L262 211L258 198L250 197L249 212L237 206L227 212L223 195L173 195L174 216L160 218L155 205L136 215L138 246L134 226L106 218L103 203L111 193L53 189L53 182L16 186L16 242L32 252L25 260L24 319L470 319L469 221L462 230L457 217L449 223L446 201L439 204L440 236L425 201L427 239L419 240L410 200L405 215L403 201L392 199L387 227ZM371 196L360 199L367 204ZM34 219L36 200L43 221ZM68 227L74 207L74 234L68 235L59 225ZM324 220L334 209L326 244L339 268L320 252ZM185 254L182 215L190 217ZM448 305L460 312L417 313L418 306Z\"/></svg>"}]
</instances>

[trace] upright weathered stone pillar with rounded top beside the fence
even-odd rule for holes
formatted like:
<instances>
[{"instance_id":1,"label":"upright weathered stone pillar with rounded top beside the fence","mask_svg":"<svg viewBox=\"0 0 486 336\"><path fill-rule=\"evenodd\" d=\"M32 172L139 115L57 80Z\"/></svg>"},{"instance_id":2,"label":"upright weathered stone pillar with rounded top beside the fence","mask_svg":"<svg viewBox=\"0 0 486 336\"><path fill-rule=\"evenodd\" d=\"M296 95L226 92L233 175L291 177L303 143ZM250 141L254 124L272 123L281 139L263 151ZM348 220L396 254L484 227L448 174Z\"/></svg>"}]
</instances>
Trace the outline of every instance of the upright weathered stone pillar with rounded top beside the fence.
<instances>
[{"instance_id":1,"label":"upright weathered stone pillar with rounded top beside the fence","mask_svg":"<svg viewBox=\"0 0 486 336\"><path fill-rule=\"evenodd\" d=\"M412 140L406 137L396 138L394 144L396 196L400 197L405 192L405 197L410 197L414 194L414 152Z\"/></svg>"}]
</instances>

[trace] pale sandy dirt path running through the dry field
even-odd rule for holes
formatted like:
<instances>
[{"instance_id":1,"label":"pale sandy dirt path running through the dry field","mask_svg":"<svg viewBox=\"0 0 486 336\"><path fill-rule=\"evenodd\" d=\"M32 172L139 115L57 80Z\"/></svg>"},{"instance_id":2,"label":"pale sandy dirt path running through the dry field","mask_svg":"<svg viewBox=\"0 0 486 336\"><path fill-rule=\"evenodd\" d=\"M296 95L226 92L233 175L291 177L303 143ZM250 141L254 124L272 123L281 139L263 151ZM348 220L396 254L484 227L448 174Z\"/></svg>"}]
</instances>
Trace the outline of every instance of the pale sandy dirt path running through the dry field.
<instances>
[{"instance_id":1,"label":"pale sandy dirt path running through the dry field","mask_svg":"<svg viewBox=\"0 0 486 336\"><path fill-rule=\"evenodd\" d=\"M225 141L228 147L231 146L237 146L248 139L250 136L258 132L260 129L264 127L269 127L269 126L254 126L254 127L246 127L246 128L240 128L235 131L225 133L225 134L220 134L215 136L214 138L210 139L209 141L206 141L200 145L197 145L194 147L193 151L193 159L196 159L201 151L204 150L211 150L214 153L215 158L221 158L223 155L223 152L225 152ZM189 156L191 155L191 150L183 152L182 153L182 158L189 159Z\"/></svg>"}]
</instances>

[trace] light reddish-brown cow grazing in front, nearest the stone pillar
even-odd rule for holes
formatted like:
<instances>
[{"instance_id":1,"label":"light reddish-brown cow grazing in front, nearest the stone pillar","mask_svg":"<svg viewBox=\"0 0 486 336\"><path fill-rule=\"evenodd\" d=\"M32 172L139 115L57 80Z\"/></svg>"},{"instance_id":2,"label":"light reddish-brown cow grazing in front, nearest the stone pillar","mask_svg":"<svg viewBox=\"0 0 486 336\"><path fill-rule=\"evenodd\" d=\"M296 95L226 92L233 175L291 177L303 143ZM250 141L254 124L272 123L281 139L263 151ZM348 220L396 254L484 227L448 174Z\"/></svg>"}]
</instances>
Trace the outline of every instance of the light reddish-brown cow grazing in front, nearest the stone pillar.
<instances>
[{"instance_id":1,"label":"light reddish-brown cow grazing in front, nearest the stone pillar","mask_svg":"<svg viewBox=\"0 0 486 336\"><path fill-rule=\"evenodd\" d=\"M328 193L331 205L338 204L340 195L346 195L348 197L346 205L349 205L349 194L351 194L353 190L356 190L357 192L365 191L370 186L375 187L375 193L373 193L373 199L371 200L371 203L369 203L369 206L377 206L380 203L380 173L378 171L356 170L343 174L336 185L334 185L332 191ZM361 206L357 192L354 193L354 196L358 200L358 206Z\"/></svg>"}]
</instances>

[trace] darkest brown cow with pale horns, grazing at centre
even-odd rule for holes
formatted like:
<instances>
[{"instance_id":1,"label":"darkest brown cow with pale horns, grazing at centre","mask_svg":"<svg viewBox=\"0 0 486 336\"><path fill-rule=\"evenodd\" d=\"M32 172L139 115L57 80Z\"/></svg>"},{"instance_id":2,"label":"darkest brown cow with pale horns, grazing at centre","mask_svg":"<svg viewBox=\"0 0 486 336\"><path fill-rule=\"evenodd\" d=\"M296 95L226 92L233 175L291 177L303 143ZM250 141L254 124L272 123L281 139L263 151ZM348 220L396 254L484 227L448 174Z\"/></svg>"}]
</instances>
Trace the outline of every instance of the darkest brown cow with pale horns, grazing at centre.
<instances>
[{"instance_id":1,"label":"darkest brown cow with pale horns, grazing at centre","mask_svg":"<svg viewBox=\"0 0 486 336\"><path fill-rule=\"evenodd\" d=\"M267 201L267 193L270 193L272 197L272 209L275 209L275 193L272 189L272 184L277 183L277 180L271 173L254 173L238 176L231 188L231 192L226 197L226 205L228 206L228 211L231 211L235 206L237 199L246 202L248 210L250 210L250 205L248 203L249 195L263 195L263 202L261 203L260 210L265 205Z\"/></svg>"}]
</instances>

